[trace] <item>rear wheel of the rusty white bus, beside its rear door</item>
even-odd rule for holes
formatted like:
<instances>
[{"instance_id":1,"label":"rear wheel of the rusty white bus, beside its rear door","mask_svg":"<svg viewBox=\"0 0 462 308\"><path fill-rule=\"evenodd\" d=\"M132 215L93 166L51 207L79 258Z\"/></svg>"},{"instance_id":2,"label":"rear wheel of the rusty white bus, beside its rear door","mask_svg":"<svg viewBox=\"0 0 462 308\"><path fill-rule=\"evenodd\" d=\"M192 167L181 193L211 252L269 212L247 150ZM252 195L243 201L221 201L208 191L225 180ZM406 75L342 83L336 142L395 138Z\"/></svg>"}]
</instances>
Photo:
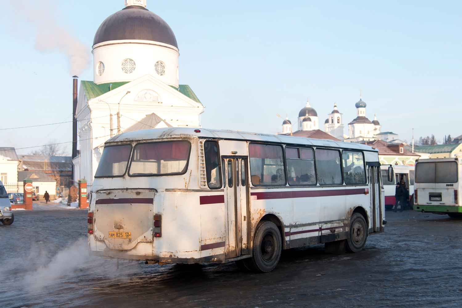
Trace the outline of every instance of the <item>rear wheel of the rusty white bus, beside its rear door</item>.
<instances>
[{"instance_id":1,"label":"rear wheel of the rusty white bus, beside its rear door","mask_svg":"<svg viewBox=\"0 0 462 308\"><path fill-rule=\"evenodd\" d=\"M279 229L271 221L258 223L255 236L253 256L248 260L248 265L255 272L271 272L278 265L282 251L282 239Z\"/></svg>"}]
</instances>

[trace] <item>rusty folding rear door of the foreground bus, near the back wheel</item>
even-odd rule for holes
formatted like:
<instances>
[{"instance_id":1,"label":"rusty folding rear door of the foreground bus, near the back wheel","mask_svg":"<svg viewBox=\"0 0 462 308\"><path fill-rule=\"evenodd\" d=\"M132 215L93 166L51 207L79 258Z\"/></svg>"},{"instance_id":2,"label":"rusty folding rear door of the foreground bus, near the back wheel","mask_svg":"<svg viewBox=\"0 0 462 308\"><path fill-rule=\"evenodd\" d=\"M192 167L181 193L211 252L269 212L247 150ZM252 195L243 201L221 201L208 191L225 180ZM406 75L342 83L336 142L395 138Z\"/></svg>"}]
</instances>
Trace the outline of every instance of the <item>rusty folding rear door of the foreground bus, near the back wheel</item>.
<instances>
[{"instance_id":1,"label":"rusty folding rear door of the foreground bus, near the back wheel","mask_svg":"<svg viewBox=\"0 0 462 308\"><path fill-rule=\"evenodd\" d=\"M249 180L248 158L222 156L226 203L225 257L249 254Z\"/></svg>"}]
</instances>

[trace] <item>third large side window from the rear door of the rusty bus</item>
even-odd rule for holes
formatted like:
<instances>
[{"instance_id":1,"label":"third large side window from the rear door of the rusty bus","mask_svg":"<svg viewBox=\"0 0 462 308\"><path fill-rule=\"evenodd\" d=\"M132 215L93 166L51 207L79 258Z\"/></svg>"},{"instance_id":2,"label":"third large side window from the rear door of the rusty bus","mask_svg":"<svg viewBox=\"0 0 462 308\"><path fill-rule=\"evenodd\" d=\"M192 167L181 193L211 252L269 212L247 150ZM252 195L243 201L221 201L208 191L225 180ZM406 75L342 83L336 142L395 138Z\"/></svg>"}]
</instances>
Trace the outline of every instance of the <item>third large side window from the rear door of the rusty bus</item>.
<instances>
[{"instance_id":1,"label":"third large side window from the rear door of the rusty bus","mask_svg":"<svg viewBox=\"0 0 462 308\"><path fill-rule=\"evenodd\" d=\"M343 184L339 151L316 148L316 170L319 184Z\"/></svg>"}]
</instances>

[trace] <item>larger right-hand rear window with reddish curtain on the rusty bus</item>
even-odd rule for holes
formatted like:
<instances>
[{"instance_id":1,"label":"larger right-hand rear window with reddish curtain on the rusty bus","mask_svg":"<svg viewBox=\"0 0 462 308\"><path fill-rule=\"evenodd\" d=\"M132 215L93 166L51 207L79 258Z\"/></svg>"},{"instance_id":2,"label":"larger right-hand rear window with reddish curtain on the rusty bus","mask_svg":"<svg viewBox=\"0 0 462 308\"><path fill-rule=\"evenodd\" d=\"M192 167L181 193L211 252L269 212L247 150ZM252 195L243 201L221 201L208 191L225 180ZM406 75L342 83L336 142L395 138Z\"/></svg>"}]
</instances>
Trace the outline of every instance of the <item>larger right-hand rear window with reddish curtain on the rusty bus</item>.
<instances>
[{"instance_id":1,"label":"larger right-hand rear window with reddish curtain on the rusty bus","mask_svg":"<svg viewBox=\"0 0 462 308\"><path fill-rule=\"evenodd\" d=\"M182 174L188 168L191 144L187 141L138 143L130 163L129 176Z\"/></svg>"}]
</instances>

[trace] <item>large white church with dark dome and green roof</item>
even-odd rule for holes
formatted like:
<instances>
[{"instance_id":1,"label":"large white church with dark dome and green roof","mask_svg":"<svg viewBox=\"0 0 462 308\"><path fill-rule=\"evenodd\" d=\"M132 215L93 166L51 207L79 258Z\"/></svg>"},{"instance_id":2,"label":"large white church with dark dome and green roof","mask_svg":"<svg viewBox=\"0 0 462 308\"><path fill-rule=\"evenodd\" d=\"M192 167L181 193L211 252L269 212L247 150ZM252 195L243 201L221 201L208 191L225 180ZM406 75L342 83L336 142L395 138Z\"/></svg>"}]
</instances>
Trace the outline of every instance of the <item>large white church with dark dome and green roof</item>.
<instances>
[{"instance_id":1,"label":"large white church with dark dome and green roof","mask_svg":"<svg viewBox=\"0 0 462 308\"><path fill-rule=\"evenodd\" d=\"M179 84L179 49L170 26L125 0L106 18L93 41L93 81L80 81L75 108L79 149L73 179L91 185L104 142L116 134L165 127L201 127L204 106ZM74 156L74 155L73 155Z\"/></svg>"}]
</instances>

